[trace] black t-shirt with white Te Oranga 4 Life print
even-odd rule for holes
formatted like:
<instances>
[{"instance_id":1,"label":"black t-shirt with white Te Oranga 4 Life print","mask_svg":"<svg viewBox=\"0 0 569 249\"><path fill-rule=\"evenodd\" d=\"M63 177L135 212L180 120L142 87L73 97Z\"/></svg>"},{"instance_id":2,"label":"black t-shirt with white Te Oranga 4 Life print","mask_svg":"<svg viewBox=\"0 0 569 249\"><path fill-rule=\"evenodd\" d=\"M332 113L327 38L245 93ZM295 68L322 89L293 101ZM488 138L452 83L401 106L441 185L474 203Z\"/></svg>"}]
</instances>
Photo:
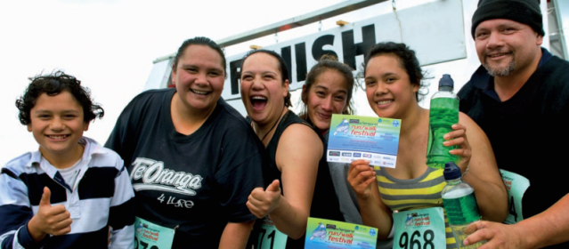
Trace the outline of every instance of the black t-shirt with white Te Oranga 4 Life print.
<instances>
[{"instance_id":1,"label":"black t-shirt with white Te Oranga 4 Life print","mask_svg":"<svg viewBox=\"0 0 569 249\"><path fill-rule=\"evenodd\" d=\"M172 248L217 248L227 222L255 220L245 204L263 187L264 146L222 99L195 133L177 133L174 93L151 90L134 98L105 147L125 160L137 217L177 227Z\"/></svg>"}]
</instances>

